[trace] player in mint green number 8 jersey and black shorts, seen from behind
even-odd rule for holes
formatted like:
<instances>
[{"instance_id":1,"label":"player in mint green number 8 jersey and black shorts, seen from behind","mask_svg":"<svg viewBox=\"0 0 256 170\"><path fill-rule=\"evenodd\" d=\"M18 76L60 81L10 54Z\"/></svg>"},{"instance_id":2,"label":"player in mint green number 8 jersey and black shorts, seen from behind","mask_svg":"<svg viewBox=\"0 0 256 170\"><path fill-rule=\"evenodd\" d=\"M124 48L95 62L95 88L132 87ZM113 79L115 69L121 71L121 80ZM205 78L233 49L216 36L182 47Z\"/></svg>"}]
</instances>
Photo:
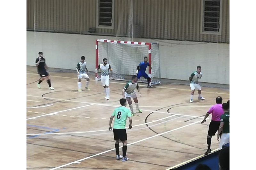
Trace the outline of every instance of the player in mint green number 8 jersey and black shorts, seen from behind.
<instances>
[{"instance_id":1,"label":"player in mint green number 8 jersey and black shorts, seen from behind","mask_svg":"<svg viewBox=\"0 0 256 170\"><path fill-rule=\"evenodd\" d=\"M116 148L116 159L122 159L122 161L126 161L129 158L126 157L127 151L127 133L125 130L126 120L127 117L129 118L129 129L132 128L132 114L129 109L126 108L126 100L124 98L120 99L121 106L116 108L112 113L112 116L109 119L109 128L108 130L111 131L112 121L115 117L114 124L113 124L113 133L114 133L114 140L116 141L115 148ZM119 142L123 142L123 156L119 154Z\"/></svg>"}]
</instances>

